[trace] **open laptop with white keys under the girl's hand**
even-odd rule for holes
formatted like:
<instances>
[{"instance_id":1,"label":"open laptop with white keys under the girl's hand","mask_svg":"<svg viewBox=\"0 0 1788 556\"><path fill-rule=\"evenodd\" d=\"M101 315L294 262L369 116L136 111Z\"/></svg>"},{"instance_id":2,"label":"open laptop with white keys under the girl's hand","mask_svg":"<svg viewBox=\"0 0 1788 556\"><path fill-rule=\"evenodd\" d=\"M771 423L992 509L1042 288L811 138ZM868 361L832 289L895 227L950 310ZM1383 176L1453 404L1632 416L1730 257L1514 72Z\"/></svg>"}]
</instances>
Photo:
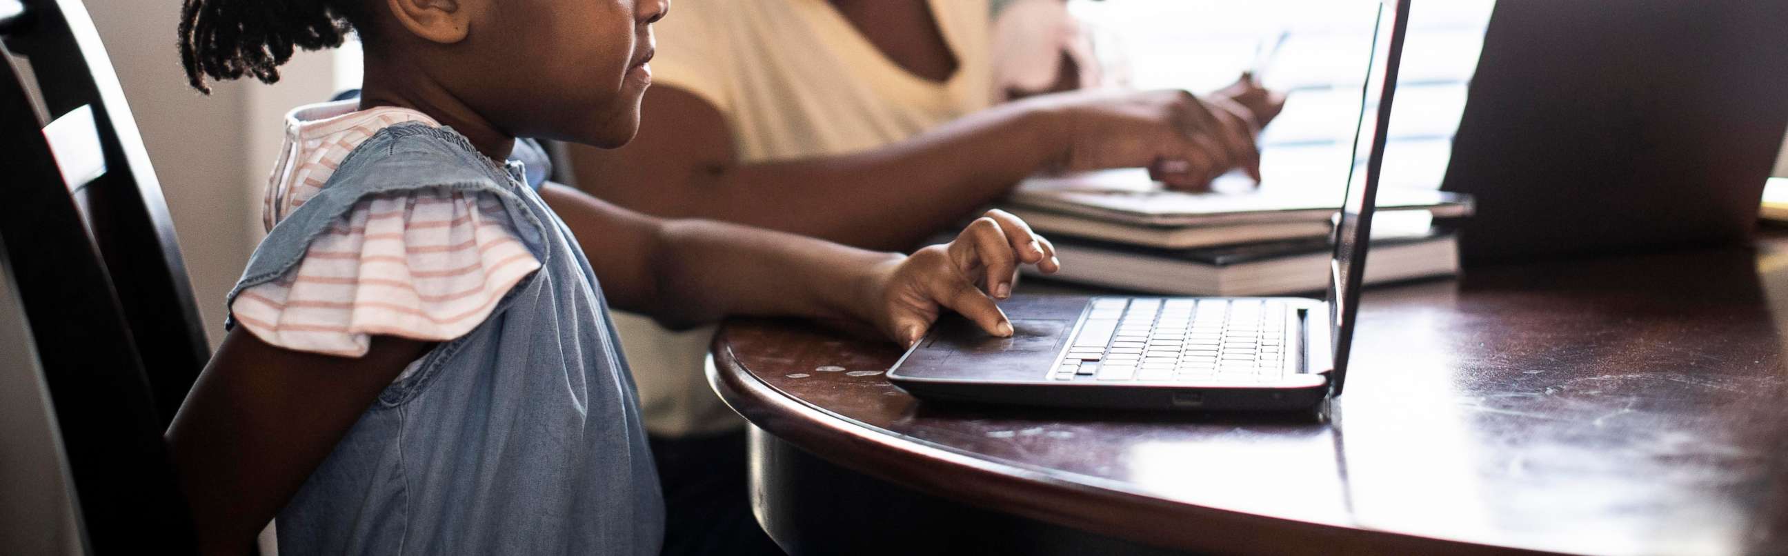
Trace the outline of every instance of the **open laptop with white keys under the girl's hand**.
<instances>
[{"instance_id":1,"label":"open laptop with white keys under the girl's hand","mask_svg":"<svg viewBox=\"0 0 1788 556\"><path fill-rule=\"evenodd\" d=\"M940 318L889 381L928 400L1103 409L1289 411L1341 395L1407 16L1407 0L1379 5L1325 300L1014 295L1010 338Z\"/></svg>"}]
</instances>

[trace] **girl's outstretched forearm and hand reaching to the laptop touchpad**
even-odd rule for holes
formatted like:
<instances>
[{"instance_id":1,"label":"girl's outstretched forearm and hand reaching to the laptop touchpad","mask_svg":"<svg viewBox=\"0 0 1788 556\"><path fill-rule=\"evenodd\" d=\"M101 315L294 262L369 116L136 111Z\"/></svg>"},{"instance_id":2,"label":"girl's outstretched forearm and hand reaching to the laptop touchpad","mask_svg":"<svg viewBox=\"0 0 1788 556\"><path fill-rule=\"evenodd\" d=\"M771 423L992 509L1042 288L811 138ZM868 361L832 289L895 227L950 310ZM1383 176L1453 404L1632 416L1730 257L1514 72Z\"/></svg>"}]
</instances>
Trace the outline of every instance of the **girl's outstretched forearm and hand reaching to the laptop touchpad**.
<instances>
[{"instance_id":1,"label":"girl's outstretched forearm and hand reaching to the laptop touchpad","mask_svg":"<svg viewBox=\"0 0 1788 556\"><path fill-rule=\"evenodd\" d=\"M948 307L1005 336L1010 324L989 293L1010 295L1017 265L1058 266L1048 240L999 211L949 245L899 256L722 222L660 220L558 184L540 193L578 236L610 302L672 327L726 315L855 318L910 343Z\"/></svg>"}]
</instances>

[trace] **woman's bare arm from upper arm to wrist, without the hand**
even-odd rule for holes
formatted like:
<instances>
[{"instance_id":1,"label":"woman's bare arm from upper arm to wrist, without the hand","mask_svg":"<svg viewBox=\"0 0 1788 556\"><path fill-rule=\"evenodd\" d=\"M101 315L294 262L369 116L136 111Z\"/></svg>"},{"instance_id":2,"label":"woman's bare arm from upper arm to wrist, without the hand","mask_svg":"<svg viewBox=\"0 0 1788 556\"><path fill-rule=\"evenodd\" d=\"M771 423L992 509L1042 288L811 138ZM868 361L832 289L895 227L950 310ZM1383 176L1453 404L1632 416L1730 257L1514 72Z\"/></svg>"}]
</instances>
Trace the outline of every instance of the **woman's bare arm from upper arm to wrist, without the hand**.
<instances>
[{"instance_id":1,"label":"woman's bare arm from upper arm to wrist, without the hand","mask_svg":"<svg viewBox=\"0 0 1788 556\"><path fill-rule=\"evenodd\" d=\"M738 164L712 104L651 88L631 143L570 152L581 190L629 209L905 249L1044 166L1051 138L1039 120L992 109L887 148Z\"/></svg>"}]
</instances>

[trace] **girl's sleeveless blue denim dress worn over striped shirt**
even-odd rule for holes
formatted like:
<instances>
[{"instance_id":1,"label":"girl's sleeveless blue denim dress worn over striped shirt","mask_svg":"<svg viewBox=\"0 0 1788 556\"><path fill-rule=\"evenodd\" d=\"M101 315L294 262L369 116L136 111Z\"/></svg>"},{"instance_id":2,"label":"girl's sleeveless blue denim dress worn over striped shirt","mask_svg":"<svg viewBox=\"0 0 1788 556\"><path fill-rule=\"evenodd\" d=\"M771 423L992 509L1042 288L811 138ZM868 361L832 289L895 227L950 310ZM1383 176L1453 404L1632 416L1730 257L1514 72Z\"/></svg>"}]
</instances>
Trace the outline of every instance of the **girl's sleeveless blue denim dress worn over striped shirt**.
<instances>
[{"instance_id":1,"label":"girl's sleeveless blue denim dress worn over striped shirt","mask_svg":"<svg viewBox=\"0 0 1788 556\"><path fill-rule=\"evenodd\" d=\"M231 302L295 268L363 197L460 190L501 198L542 263L361 415L279 513L281 554L658 554L633 377L595 272L524 166L497 168L447 127L386 127L249 259Z\"/></svg>"}]
</instances>

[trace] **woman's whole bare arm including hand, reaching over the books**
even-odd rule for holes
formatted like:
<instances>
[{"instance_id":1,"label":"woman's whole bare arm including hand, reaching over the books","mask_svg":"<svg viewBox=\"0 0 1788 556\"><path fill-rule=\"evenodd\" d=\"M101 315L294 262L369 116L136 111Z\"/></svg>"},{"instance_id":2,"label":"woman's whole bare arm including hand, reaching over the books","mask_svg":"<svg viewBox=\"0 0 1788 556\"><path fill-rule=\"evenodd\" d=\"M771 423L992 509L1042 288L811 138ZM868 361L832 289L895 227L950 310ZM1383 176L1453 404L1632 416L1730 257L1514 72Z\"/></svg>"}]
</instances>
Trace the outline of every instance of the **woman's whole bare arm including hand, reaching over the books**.
<instances>
[{"instance_id":1,"label":"woman's whole bare arm including hand, reaching over the books","mask_svg":"<svg viewBox=\"0 0 1788 556\"><path fill-rule=\"evenodd\" d=\"M578 186L665 218L713 218L865 249L907 249L1041 170L1150 166L1202 188L1257 159L1252 134L1182 91L1078 91L1001 104L858 154L738 163L726 118L676 88L647 89L622 148L572 145Z\"/></svg>"}]
</instances>

